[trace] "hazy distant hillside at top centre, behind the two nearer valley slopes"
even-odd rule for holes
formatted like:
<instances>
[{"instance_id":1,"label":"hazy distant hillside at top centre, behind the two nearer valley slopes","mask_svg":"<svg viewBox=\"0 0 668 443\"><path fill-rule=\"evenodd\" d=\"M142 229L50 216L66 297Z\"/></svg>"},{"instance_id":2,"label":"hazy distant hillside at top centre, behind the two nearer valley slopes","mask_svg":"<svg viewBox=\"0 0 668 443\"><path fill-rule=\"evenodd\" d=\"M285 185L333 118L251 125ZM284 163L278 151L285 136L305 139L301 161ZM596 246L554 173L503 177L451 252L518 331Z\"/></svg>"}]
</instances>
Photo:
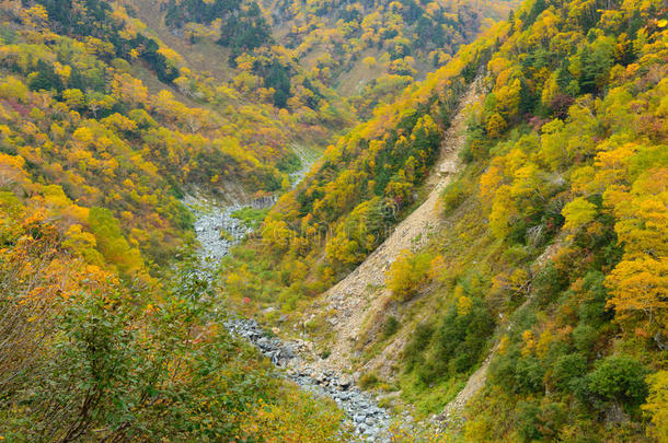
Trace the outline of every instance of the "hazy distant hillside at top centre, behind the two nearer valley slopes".
<instances>
[{"instance_id":1,"label":"hazy distant hillside at top centre, behind the two nearer valley slopes","mask_svg":"<svg viewBox=\"0 0 668 443\"><path fill-rule=\"evenodd\" d=\"M300 102L313 108L322 94L350 97L357 114L368 118L377 104L442 66L517 2L125 3L220 80L258 77L275 90L277 103L293 110Z\"/></svg>"}]
</instances>

